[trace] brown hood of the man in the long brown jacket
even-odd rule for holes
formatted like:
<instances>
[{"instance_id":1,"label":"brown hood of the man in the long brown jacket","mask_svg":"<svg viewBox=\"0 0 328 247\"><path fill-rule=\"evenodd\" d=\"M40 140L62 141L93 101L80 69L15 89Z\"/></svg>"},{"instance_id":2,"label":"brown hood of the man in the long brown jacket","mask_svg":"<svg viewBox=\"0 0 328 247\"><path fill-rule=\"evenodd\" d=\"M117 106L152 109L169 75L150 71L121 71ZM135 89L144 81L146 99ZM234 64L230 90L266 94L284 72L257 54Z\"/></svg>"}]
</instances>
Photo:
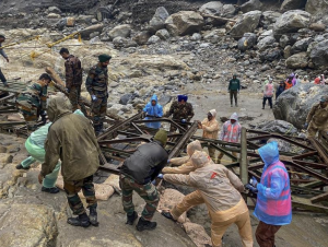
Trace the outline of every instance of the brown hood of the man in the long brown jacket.
<instances>
[{"instance_id":1,"label":"brown hood of the man in the long brown jacket","mask_svg":"<svg viewBox=\"0 0 328 247\"><path fill-rule=\"evenodd\" d=\"M65 97L51 97L47 107L47 114L50 121L56 121L66 114L70 114L70 105Z\"/></svg>"}]
</instances>

